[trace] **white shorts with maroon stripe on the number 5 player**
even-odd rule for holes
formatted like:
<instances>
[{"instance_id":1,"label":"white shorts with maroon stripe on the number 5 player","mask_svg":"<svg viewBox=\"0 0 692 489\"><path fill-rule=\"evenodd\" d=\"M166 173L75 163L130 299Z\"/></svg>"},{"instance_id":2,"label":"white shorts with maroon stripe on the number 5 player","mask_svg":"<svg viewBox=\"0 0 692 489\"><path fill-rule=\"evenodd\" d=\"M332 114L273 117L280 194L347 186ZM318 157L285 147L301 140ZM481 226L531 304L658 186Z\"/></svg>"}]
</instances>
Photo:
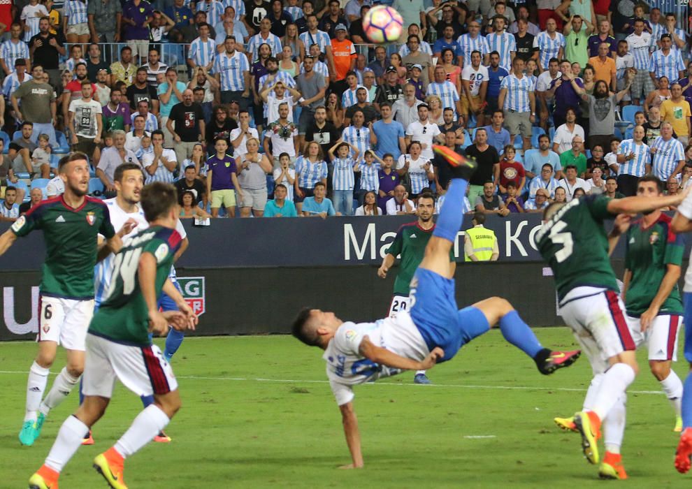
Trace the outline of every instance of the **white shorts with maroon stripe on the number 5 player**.
<instances>
[{"instance_id":1,"label":"white shorts with maroon stripe on the number 5 player","mask_svg":"<svg viewBox=\"0 0 692 489\"><path fill-rule=\"evenodd\" d=\"M572 289L560 303L560 314L582 344L594 373L595 363L637 348L624 310L617 292L596 287Z\"/></svg>"}]
</instances>

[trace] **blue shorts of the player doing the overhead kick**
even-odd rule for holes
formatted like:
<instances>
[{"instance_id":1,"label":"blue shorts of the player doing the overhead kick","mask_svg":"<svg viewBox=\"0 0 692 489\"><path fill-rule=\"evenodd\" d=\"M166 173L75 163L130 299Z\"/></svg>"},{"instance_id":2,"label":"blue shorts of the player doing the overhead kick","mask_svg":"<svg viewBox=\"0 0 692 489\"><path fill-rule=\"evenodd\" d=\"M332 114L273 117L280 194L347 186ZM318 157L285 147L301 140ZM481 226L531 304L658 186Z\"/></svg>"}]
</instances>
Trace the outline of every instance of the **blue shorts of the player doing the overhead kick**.
<instances>
[{"instance_id":1,"label":"blue shorts of the player doing the overhead kick","mask_svg":"<svg viewBox=\"0 0 692 489\"><path fill-rule=\"evenodd\" d=\"M480 309L457 309L454 280L431 270L419 268L411 281L411 319L432 351L439 346L452 360L461 346L490 329Z\"/></svg>"}]
</instances>

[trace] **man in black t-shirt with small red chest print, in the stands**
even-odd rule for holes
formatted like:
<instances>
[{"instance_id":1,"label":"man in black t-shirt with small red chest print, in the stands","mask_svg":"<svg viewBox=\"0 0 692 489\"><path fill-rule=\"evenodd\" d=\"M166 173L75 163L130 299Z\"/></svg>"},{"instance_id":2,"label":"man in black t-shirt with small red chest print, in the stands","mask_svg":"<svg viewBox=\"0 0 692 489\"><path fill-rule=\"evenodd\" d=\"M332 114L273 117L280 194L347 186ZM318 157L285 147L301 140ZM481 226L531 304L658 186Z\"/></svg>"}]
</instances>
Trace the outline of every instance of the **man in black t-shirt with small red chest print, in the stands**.
<instances>
[{"instance_id":1,"label":"man in black t-shirt with small red chest print, in the stands","mask_svg":"<svg viewBox=\"0 0 692 489\"><path fill-rule=\"evenodd\" d=\"M161 87L159 87L159 93ZM163 97L161 97L163 98ZM202 107L192 99L192 90L182 92L182 102L173 105L168 115L166 129L173 135L173 147L178 161L192 154L192 147L205 138L206 124Z\"/></svg>"}]
</instances>

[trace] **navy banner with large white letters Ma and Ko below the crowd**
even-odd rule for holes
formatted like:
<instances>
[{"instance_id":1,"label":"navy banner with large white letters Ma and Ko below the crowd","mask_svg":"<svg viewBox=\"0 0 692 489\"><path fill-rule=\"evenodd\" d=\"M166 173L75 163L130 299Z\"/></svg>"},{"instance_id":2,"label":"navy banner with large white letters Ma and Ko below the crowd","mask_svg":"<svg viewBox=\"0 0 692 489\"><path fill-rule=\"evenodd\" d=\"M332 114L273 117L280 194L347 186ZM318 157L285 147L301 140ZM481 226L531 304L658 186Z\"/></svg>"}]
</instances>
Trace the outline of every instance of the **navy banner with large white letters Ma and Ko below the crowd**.
<instances>
[{"instance_id":1,"label":"navy banner with large white letters Ma and Ko below the crowd","mask_svg":"<svg viewBox=\"0 0 692 489\"><path fill-rule=\"evenodd\" d=\"M212 219L206 227L185 221L190 248L181 268L333 267L380 263L396 231L415 217L330 217L328 219ZM541 261L534 238L540 214L488 216L500 261ZM464 217L462 229L471 227ZM5 227L1 227L3 231ZM463 260L463 231L454 254ZM0 257L0 270L38 270L43 263L41 233L22 238ZM621 251L616 253L621 256Z\"/></svg>"}]
</instances>

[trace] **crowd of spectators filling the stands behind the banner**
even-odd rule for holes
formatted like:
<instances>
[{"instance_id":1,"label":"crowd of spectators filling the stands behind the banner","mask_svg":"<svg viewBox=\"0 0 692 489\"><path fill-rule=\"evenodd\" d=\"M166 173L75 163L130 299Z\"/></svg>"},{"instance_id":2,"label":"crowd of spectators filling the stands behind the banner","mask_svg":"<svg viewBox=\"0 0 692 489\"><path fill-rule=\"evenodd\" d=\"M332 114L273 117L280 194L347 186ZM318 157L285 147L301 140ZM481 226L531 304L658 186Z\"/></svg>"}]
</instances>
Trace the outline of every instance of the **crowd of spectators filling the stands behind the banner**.
<instances>
[{"instance_id":1,"label":"crowd of spectators filling the stands behind the banner","mask_svg":"<svg viewBox=\"0 0 692 489\"><path fill-rule=\"evenodd\" d=\"M1 219L59 194L70 150L96 195L125 162L174 182L181 217L415 214L426 191L439 209L433 144L478 162L463 212L630 196L646 173L689 185L686 7L392 6L396 47L368 44L370 0L0 4Z\"/></svg>"}]
</instances>

